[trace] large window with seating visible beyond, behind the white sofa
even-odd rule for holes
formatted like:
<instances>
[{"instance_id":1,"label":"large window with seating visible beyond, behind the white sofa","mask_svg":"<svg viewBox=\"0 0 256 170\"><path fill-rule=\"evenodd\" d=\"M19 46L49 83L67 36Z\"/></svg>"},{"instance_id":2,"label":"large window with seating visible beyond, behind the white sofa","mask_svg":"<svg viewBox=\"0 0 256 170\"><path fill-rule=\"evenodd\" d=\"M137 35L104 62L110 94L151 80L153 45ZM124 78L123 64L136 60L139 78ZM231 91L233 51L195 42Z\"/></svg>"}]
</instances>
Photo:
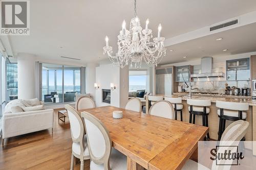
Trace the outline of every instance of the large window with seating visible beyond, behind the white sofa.
<instances>
[{"instance_id":1,"label":"large window with seating visible beyond, behind the white sofa","mask_svg":"<svg viewBox=\"0 0 256 170\"><path fill-rule=\"evenodd\" d=\"M74 102L80 93L81 67L42 63L41 100L45 103Z\"/></svg>"}]
</instances>

